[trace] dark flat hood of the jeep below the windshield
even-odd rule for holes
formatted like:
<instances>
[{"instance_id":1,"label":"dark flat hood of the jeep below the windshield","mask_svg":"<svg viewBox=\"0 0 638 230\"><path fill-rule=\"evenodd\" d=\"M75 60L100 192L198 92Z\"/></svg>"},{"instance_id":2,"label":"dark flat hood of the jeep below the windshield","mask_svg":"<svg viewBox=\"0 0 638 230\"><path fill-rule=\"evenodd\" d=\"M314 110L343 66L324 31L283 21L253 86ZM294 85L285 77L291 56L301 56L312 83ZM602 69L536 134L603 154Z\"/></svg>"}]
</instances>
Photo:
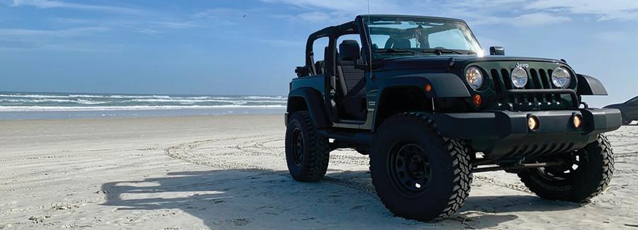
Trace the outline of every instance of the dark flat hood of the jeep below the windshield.
<instances>
[{"instance_id":1,"label":"dark flat hood of the jeep below the windshield","mask_svg":"<svg viewBox=\"0 0 638 230\"><path fill-rule=\"evenodd\" d=\"M476 57L468 55L441 55L392 57L375 61L373 67L376 71L399 69L449 69L451 58L454 58L454 68L463 68L466 66L466 64L470 64L472 62L554 62L566 64L556 59L545 59L536 57Z\"/></svg>"}]
</instances>

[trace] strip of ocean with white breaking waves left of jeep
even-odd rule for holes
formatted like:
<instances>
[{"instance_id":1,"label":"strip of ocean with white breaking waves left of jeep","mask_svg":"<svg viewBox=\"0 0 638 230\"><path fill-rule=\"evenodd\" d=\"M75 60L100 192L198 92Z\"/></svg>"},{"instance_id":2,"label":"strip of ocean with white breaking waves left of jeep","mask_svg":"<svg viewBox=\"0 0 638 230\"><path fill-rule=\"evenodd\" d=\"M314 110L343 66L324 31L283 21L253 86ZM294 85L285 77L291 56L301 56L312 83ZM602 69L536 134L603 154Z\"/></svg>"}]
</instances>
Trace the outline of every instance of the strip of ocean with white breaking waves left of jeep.
<instances>
[{"instance_id":1,"label":"strip of ocean with white breaking waves left of jeep","mask_svg":"<svg viewBox=\"0 0 638 230\"><path fill-rule=\"evenodd\" d=\"M284 96L0 92L0 120L284 113Z\"/></svg>"}]
</instances>

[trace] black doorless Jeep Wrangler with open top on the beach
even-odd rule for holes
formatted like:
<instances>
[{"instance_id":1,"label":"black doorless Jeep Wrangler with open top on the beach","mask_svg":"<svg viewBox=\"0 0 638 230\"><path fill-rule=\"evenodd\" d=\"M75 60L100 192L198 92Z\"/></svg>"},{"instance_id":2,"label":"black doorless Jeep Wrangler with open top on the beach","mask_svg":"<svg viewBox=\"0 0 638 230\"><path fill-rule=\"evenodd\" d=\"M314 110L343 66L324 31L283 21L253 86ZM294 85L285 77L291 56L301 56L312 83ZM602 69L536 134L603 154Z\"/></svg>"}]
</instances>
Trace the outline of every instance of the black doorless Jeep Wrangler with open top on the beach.
<instances>
[{"instance_id":1,"label":"black doorless Jeep Wrangler with open top on the beach","mask_svg":"<svg viewBox=\"0 0 638 230\"><path fill-rule=\"evenodd\" d=\"M319 38L328 46L315 62ZM330 151L356 149L386 207L421 221L457 212L476 172L517 173L551 200L605 191L614 159L603 132L620 127L620 111L581 100L607 95L603 85L562 59L503 55L483 57L452 18L364 15L313 33L290 83L291 176L320 180Z\"/></svg>"}]
</instances>

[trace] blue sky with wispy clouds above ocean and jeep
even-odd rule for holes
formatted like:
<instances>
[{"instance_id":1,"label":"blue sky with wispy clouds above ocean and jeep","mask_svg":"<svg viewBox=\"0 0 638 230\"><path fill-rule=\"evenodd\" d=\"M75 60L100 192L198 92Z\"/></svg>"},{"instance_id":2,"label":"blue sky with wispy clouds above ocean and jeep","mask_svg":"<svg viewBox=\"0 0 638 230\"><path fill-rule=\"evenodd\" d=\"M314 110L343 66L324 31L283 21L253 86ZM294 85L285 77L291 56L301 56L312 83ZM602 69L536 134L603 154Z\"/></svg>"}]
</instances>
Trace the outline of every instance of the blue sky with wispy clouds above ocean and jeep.
<instances>
[{"instance_id":1,"label":"blue sky with wispy clouds above ocean and jeep","mask_svg":"<svg viewBox=\"0 0 638 230\"><path fill-rule=\"evenodd\" d=\"M308 34L365 0L0 0L0 91L285 95ZM564 58L609 97L638 95L638 1L370 0L462 18L484 49Z\"/></svg>"}]
</instances>

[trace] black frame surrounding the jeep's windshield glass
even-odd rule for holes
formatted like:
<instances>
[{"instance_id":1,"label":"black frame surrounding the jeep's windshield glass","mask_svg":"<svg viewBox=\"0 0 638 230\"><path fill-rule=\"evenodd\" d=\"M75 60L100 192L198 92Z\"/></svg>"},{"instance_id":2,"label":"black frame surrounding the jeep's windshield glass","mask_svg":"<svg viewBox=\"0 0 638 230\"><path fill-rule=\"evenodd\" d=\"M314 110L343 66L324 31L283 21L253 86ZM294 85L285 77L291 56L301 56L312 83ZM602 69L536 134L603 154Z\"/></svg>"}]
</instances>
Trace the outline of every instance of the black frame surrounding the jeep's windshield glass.
<instances>
[{"instance_id":1,"label":"black frame surrounding the jeep's windshield glass","mask_svg":"<svg viewBox=\"0 0 638 230\"><path fill-rule=\"evenodd\" d=\"M467 38L466 39L471 39L474 40L474 42L476 42L476 47L478 48L478 50L457 50L457 49L449 49L449 48L444 48L444 49L436 49L436 48L418 48L418 47L413 47L413 48L397 48L396 50L411 50L411 51L415 51L418 52L419 54L415 54L413 52L396 52L396 54L394 55L388 55L387 52L384 52L383 56L386 57L379 57L379 55L376 55L376 52L374 50L372 50L372 38L371 38L371 28L369 26L369 22L370 21L424 21L427 23L459 23L462 27L464 27L464 29L466 30ZM454 52L462 52L464 54L460 54L460 55L475 55L478 57L483 57L483 55L485 54L485 51L483 50L483 47L481 46L481 43L478 42L478 40L476 39L476 36L474 35L474 32L472 32L471 28L469 27L469 25L467 25L467 23L463 20L460 19L456 19L456 18L440 18L440 17L428 17L428 16L393 16L393 15L363 15L361 16L361 23L362 26L361 28L364 29L365 34L364 37L366 37L366 41L367 41L367 45L369 48L369 52L372 59L386 59L386 58L391 58L391 57L405 57L405 56L415 56L415 55L425 55L427 53L434 53L437 55L440 54L452 54L452 55L459 55L459 54L454 54L453 52L436 52L437 50L452 50ZM444 30L442 30L444 31ZM363 36L362 36L363 37ZM470 44L471 45L471 44ZM378 50L388 50L385 48L379 48ZM375 57L376 56L376 57Z\"/></svg>"}]
</instances>

